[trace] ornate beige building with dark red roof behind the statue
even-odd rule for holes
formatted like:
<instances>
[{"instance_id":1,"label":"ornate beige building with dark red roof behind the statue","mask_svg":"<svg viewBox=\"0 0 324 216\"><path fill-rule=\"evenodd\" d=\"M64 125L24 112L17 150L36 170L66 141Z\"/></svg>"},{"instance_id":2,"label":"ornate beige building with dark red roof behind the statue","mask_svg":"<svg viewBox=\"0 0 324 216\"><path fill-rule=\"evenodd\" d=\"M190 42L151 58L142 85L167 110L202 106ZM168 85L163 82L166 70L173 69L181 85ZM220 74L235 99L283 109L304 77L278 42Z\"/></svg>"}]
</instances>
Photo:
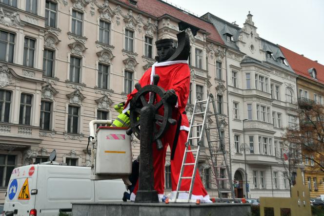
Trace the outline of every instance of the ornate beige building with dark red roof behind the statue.
<instances>
[{"instance_id":1,"label":"ornate beige building with dark red roof behind the statue","mask_svg":"<svg viewBox=\"0 0 324 216\"><path fill-rule=\"evenodd\" d=\"M188 117L197 95L222 95L228 144L227 84L216 79L225 77L224 43L212 24L157 0L38 0L31 8L15 2L0 3L0 202L14 167L47 161L53 150L58 162L88 166L89 121L117 117L114 105L154 64L155 41L176 40L182 20L197 31L189 30ZM135 158L138 144L132 143ZM215 196L207 153L200 171Z\"/></svg>"}]
</instances>

